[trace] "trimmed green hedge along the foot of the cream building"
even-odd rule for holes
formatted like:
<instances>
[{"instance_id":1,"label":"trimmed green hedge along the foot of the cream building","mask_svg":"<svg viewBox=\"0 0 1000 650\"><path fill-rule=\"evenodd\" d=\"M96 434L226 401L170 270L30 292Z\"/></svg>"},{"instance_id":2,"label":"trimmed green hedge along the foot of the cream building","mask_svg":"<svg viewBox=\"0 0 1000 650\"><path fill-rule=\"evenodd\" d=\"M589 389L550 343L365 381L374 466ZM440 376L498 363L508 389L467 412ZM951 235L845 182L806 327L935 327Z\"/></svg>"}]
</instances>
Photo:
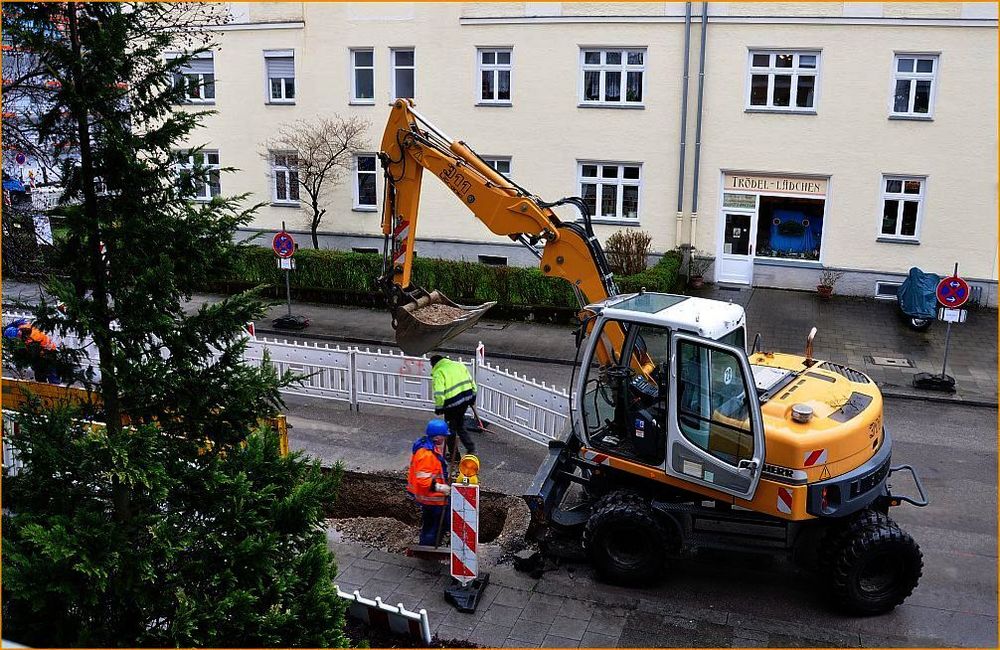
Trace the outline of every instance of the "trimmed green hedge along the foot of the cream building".
<instances>
[{"instance_id":1,"label":"trimmed green hedge along the foot of the cream building","mask_svg":"<svg viewBox=\"0 0 1000 650\"><path fill-rule=\"evenodd\" d=\"M291 286L300 295L322 300L326 294L338 302L354 304L371 304L380 295L375 284L382 272L380 255L303 249L295 254L295 264ZM615 281L623 293L642 287L670 292L676 287L679 268L680 257L669 252L652 268L616 277ZM428 290L438 289L462 304L495 300L500 306L578 309L569 283L546 277L537 268L417 258L413 262L413 283ZM229 289L267 284L283 293L285 278L271 249L247 246L241 249L232 273L222 278L221 284ZM359 300L351 300L351 294Z\"/></svg>"}]
</instances>

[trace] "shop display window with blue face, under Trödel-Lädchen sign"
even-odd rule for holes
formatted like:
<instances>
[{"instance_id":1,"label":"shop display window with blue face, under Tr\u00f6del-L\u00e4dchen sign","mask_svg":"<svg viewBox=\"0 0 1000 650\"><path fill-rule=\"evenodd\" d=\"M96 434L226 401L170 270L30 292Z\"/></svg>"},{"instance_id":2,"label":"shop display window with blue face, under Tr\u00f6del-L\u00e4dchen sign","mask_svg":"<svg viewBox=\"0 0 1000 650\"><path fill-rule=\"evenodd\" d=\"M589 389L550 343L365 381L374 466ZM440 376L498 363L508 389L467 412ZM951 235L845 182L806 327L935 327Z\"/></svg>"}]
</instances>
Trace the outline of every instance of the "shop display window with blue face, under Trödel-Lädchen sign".
<instances>
[{"instance_id":1,"label":"shop display window with blue face, under Tr\u00f6del-L\u00e4dchen sign","mask_svg":"<svg viewBox=\"0 0 1000 650\"><path fill-rule=\"evenodd\" d=\"M824 204L823 199L761 195L756 256L818 261Z\"/></svg>"}]
</instances>

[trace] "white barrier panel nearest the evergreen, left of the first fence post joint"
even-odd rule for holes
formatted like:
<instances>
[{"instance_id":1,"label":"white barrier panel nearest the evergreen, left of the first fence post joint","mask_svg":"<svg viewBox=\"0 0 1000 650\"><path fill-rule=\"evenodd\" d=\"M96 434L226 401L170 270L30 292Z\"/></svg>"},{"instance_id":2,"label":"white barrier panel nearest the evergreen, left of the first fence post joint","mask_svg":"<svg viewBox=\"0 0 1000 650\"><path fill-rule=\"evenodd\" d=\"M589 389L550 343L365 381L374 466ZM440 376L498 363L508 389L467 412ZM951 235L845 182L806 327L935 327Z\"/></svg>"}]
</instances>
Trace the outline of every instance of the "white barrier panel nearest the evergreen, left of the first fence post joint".
<instances>
[{"instance_id":1,"label":"white barrier panel nearest the evergreen, left of the first fence post joint","mask_svg":"<svg viewBox=\"0 0 1000 650\"><path fill-rule=\"evenodd\" d=\"M351 350L331 347L325 343L298 343L276 339L251 339L246 359L257 365L263 362L265 350L279 374L291 371L304 375L300 383L283 390L292 395L351 401L353 373Z\"/></svg>"}]
</instances>

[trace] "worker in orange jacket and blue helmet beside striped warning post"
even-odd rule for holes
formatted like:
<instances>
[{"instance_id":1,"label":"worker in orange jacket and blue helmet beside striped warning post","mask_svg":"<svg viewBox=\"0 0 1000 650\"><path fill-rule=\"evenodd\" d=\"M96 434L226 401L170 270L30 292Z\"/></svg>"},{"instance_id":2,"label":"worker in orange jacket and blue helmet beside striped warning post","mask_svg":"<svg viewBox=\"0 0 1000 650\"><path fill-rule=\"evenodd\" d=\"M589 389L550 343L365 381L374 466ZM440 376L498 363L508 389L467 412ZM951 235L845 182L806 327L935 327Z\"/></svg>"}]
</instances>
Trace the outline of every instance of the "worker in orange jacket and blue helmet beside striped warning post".
<instances>
[{"instance_id":1,"label":"worker in orange jacket and blue helmet beside striped warning post","mask_svg":"<svg viewBox=\"0 0 1000 650\"><path fill-rule=\"evenodd\" d=\"M451 435L454 434L448 430L448 424L435 418L427 423L424 435L413 443L406 491L420 504L421 546L437 546L439 527L448 518L451 485L445 445Z\"/></svg>"}]
</instances>

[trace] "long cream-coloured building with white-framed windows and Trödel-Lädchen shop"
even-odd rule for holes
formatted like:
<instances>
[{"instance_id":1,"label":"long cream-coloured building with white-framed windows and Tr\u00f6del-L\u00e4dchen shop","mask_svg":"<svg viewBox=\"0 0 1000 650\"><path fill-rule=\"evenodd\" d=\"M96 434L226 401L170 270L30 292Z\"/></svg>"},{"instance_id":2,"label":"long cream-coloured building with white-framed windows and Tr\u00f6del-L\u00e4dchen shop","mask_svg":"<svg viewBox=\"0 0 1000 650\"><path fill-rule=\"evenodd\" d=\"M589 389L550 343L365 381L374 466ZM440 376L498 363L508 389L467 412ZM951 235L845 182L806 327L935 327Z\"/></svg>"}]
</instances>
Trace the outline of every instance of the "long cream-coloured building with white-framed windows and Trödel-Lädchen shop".
<instances>
[{"instance_id":1,"label":"long cream-coloured building with white-framed windows and Tr\u00f6del-L\u00e4dchen shop","mask_svg":"<svg viewBox=\"0 0 1000 650\"><path fill-rule=\"evenodd\" d=\"M369 145L325 199L321 244L381 250L374 154L391 100L412 94L436 126L542 198L589 199L602 239L641 228L656 252L693 243L715 257L718 282L810 288L834 269L845 272L838 292L872 296L891 294L911 266L947 274L958 262L996 304L993 3L231 11L213 57L190 71L214 75L200 77L214 97L193 103L217 111L192 144L240 170L206 196L267 204L261 231L286 222L309 245L294 168L263 144L277 126L357 116L371 124ZM423 256L534 263L429 177L418 228Z\"/></svg>"}]
</instances>

